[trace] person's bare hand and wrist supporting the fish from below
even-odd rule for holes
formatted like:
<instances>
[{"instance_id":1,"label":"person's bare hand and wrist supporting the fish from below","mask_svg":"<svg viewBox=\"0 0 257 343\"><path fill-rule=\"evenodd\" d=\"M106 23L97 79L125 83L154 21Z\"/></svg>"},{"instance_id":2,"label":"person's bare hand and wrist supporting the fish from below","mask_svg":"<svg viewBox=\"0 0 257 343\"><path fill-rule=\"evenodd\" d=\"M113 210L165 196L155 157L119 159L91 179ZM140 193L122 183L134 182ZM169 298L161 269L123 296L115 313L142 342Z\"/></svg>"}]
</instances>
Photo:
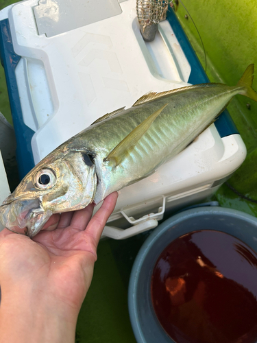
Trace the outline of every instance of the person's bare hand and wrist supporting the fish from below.
<instances>
[{"instance_id":1,"label":"person's bare hand and wrist supporting the fish from below","mask_svg":"<svg viewBox=\"0 0 257 343\"><path fill-rule=\"evenodd\" d=\"M0 233L0 342L74 342L97 245L117 197L110 194L92 219L93 204L53 215L33 239Z\"/></svg>"}]
</instances>

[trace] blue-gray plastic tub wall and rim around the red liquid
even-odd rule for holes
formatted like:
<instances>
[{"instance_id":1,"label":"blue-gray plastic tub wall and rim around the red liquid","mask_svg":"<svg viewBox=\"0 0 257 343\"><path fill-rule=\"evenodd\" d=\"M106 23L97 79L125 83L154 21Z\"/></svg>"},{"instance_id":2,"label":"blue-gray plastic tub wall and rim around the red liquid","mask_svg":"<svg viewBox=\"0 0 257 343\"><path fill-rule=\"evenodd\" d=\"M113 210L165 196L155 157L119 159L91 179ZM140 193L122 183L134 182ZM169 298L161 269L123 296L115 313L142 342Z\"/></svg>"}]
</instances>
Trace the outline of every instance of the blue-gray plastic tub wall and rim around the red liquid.
<instances>
[{"instance_id":1,"label":"blue-gray plastic tub wall and rim around the red liquid","mask_svg":"<svg viewBox=\"0 0 257 343\"><path fill-rule=\"evenodd\" d=\"M200 207L174 215L147 238L140 248L129 285L129 311L138 343L171 343L160 326L151 303L151 274L154 265L171 241L195 230L217 230L241 239L257 252L257 218L221 207Z\"/></svg>"}]
</instances>

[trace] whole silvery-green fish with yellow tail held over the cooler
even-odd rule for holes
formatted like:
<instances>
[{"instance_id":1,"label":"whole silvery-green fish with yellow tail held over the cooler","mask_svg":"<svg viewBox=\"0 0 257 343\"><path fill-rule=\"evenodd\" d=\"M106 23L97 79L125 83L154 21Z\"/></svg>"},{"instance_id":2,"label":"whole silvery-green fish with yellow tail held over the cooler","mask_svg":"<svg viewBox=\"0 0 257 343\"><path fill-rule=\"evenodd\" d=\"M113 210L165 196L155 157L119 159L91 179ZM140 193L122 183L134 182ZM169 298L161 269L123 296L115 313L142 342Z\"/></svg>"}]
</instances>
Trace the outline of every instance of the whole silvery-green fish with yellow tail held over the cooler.
<instances>
[{"instance_id":1,"label":"whole silvery-green fish with yellow tail held over the cooler","mask_svg":"<svg viewBox=\"0 0 257 343\"><path fill-rule=\"evenodd\" d=\"M53 213L99 204L153 174L219 117L234 95L257 102L254 64L236 86L197 84L147 93L131 108L97 119L62 143L21 180L0 206L0 220L34 237Z\"/></svg>"}]
</instances>

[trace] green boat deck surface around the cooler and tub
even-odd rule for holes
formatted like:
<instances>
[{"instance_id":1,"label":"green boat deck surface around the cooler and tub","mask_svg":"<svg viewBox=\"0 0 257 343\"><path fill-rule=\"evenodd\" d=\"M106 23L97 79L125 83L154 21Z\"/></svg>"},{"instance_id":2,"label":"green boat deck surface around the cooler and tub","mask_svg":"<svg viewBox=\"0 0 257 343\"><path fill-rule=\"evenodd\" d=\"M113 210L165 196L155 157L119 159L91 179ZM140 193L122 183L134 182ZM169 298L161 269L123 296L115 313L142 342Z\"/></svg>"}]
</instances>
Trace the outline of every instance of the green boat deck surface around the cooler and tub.
<instances>
[{"instance_id":1,"label":"green boat deck surface around the cooler and tub","mask_svg":"<svg viewBox=\"0 0 257 343\"><path fill-rule=\"evenodd\" d=\"M0 0L0 6L5 8L14 2ZM206 73L211 82L234 85L249 64L254 63L257 68L254 0L184 0L183 3L188 12L179 3L176 13L204 66L201 35L206 51ZM257 76L253 87L257 90ZM0 104L1 113L12 123L3 68L0 68ZM257 104L237 96L228 110L247 147L247 158L228 184L206 201L217 200L221 206L257 216ZM106 239L100 242L93 282L77 322L77 343L136 342L127 309L127 287L136 254L148 235L143 233L124 241Z\"/></svg>"}]
</instances>

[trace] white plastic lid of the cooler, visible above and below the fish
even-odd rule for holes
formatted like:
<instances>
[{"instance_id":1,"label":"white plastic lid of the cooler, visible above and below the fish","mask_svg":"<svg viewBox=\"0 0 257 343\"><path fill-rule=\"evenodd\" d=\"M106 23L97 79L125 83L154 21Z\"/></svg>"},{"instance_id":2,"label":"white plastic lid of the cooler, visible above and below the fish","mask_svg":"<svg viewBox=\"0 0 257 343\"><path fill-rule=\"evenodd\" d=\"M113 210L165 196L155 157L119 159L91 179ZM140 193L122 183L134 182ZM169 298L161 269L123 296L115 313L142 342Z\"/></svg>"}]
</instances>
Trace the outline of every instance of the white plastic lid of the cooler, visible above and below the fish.
<instances>
[{"instance_id":1,"label":"white plastic lid of the cooler, visible above and below the fish","mask_svg":"<svg viewBox=\"0 0 257 343\"><path fill-rule=\"evenodd\" d=\"M149 91L187 84L191 66L169 23L161 22L154 42L145 43L135 1L119 2L121 14L52 37L38 34L33 12L38 0L0 13L8 13L14 51L22 57L16 79L23 119L36 131L35 163L102 115L132 106ZM115 228L105 229L105 235L121 238L138 232L135 227L154 225L149 221L162 218L162 200L169 210L204 199L245 156L238 134L221 139L212 124L155 174L119 191L109 222L125 214L135 226L122 234L119 228L116 233Z\"/></svg>"}]
</instances>

